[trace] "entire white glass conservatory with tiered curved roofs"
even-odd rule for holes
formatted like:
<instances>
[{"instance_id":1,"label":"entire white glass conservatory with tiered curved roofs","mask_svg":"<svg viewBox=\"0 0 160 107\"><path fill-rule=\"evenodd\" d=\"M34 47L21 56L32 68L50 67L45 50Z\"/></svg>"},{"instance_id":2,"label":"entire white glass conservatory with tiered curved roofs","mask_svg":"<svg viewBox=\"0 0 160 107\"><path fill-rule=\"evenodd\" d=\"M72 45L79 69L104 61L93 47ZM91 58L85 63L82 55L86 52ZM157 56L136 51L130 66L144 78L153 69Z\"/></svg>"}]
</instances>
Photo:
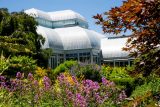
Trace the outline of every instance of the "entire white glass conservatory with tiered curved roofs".
<instances>
[{"instance_id":1,"label":"entire white glass conservatory with tiered curved roofs","mask_svg":"<svg viewBox=\"0 0 160 107\"><path fill-rule=\"evenodd\" d=\"M44 12L28 9L25 13L38 22L37 33L45 38L43 48L51 48L49 66L55 68L65 60L86 63L125 65L128 53L122 52L126 39L109 39L88 29L88 22L72 10ZM120 64L123 62L123 64Z\"/></svg>"}]
</instances>

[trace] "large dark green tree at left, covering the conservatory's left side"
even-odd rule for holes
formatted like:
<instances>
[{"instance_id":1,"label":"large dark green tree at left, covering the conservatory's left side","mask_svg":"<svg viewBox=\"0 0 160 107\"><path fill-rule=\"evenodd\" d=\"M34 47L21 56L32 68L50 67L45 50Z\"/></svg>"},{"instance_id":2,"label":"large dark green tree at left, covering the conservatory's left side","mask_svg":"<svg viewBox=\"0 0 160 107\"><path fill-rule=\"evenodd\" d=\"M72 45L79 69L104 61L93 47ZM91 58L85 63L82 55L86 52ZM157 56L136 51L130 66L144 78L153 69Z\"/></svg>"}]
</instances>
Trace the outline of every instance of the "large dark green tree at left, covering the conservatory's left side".
<instances>
[{"instance_id":1,"label":"large dark green tree at left, covering the conservatory's left side","mask_svg":"<svg viewBox=\"0 0 160 107\"><path fill-rule=\"evenodd\" d=\"M38 64L47 66L49 49L42 50L42 35L36 32L37 22L24 12L9 13L0 9L0 52L4 55L27 55L37 59ZM47 54L47 56L45 55ZM46 62L44 64L44 62Z\"/></svg>"}]
</instances>

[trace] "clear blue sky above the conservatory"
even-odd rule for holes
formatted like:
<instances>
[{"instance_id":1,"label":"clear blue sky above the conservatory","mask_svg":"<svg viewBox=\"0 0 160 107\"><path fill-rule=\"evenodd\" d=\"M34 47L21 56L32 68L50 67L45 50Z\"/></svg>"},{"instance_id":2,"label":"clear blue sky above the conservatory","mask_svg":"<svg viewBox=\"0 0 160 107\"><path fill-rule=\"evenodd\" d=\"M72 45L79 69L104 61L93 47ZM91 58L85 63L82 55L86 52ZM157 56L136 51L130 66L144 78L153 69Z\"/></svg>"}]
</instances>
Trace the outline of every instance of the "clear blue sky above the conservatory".
<instances>
[{"instance_id":1,"label":"clear blue sky above the conservatory","mask_svg":"<svg viewBox=\"0 0 160 107\"><path fill-rule=\"evenodd\" d=\"M100 26L95 25L92 18L97 13L104 13L112 7L122 5L122 0L0 0L0 8L8 8L10 12L36 8L43 11L59 11L71 9L84 16L89 29L102 33Z\"/></svg>"}]
</instances>

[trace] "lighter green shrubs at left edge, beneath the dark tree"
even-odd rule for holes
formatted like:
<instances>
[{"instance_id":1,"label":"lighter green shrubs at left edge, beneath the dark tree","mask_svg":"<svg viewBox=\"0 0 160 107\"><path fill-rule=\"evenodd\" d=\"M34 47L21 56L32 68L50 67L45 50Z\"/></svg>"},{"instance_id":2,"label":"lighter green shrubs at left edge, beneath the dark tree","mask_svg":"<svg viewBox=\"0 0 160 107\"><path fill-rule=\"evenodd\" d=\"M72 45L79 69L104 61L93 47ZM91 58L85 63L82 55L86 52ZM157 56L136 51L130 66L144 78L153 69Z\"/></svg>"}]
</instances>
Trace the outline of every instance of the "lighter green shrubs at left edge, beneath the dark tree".
<instances>
[{"instance_id":1,"label":"lighter green shrubs at left edge, beneath the dark tree","mask_svg":"<svg viewBox=\"0 0 160 107\"><path fill-rule=\"evenodd\" d=\"M13 56L5 58L3 54L0 56L0 75L14 77L17 72L25 74L35 73L37 68L36 60L28 56Z\"/></svg>"}]
</instances>

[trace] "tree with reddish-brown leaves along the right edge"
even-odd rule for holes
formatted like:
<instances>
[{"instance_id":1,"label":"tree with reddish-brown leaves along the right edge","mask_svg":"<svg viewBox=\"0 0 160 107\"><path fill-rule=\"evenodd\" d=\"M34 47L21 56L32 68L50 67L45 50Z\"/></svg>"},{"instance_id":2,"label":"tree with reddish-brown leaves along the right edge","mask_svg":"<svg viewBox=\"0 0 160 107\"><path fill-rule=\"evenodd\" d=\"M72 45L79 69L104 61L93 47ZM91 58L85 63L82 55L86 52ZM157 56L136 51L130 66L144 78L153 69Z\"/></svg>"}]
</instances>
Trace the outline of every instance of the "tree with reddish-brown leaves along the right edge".
<instances>
[{"instance_id":1,"label":"tree with reddish-brown leaves along the right edge","mask_svg":"<svg viewBox=\"0 0 160 107\"><path fill-rule=\"evenodd\" d=\"M123 49L137 57L135 73L160 74L160 0L126 0L94 18L105 33L132 32Z\"/></svg>"}]
</instances>

